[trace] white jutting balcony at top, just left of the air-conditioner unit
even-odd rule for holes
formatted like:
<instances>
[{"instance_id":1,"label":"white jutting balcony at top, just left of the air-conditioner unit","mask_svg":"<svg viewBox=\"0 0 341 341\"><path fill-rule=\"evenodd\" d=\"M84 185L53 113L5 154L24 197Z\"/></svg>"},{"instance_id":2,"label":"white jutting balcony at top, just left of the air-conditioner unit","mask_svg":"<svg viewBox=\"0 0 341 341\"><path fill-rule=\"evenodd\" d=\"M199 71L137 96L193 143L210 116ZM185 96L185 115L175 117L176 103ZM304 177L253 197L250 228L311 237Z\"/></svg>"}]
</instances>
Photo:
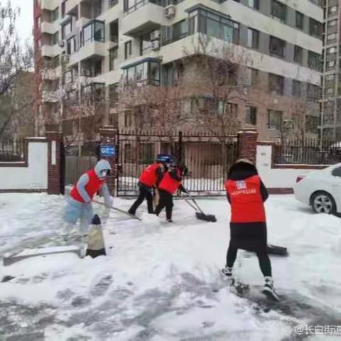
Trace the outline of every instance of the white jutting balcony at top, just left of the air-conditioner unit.
<instances>
[{"instance_id":1,"label":"white jutting balcony at top, just left of the air-conditioner unit","mask_svg":"<svg viewBox=\"0 0 341 341\"><path fill-rule=\"evenodd\" d=\"M125 11L122 33L134 37L166 25L164 10L162 6L146 0L136 2Z\"/></svg>"}]
</instances>

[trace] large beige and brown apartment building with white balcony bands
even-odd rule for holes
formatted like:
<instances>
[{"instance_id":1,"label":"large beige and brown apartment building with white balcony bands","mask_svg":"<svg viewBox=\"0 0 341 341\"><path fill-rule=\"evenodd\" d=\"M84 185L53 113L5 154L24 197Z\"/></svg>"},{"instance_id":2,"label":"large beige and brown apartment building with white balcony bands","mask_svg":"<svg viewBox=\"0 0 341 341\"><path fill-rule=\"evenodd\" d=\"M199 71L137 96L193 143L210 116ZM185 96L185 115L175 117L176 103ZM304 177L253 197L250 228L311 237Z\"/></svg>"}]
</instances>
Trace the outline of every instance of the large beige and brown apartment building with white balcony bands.
<instances>
[{"instance_id":1,"label":"large beige and brown apartment building with white balcony bands","mask_svg":"<svg viewBox=\"0 0 341 341\"><path fill-rule=\"evenodd\" d=\"M311 136L317 133L323 50L323 9L317 0L34 3L40 134L59 127L72 135L82 127L93 127L91 114L77 110L89 99L101 99L94 108L103 112L101 123L134 128L131 113L118 110L122 95L118 89L133 82L155 87L157 92L176 87L179 74L184 78L190 73L200 75L200 66L183 63L195 55L197 36L247 54L243 63L249 72L248 91L244 100L227 103L242 126L256 127L260 139L277 139L283 126L294 126L298 115L303 115L305 131ZM217 103L218 111L224 108L205 91L202 101ZM186 94L183 103L183 115L188 117L193 114L193 99ZM183 124L173 126L180 127ZM197 128L195 117L189 128Z\"/></svg>"}]
</instances>

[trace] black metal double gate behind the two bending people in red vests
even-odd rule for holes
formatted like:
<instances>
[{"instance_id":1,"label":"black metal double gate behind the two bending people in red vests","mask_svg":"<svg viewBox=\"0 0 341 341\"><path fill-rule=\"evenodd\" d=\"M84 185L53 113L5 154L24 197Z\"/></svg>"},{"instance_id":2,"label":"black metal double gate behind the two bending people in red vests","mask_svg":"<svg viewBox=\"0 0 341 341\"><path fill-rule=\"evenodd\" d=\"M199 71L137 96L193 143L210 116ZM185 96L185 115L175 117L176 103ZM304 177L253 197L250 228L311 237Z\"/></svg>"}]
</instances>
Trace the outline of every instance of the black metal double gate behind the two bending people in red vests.
<instances>
[{"instance_id":1,"label":"black metal double gate behind the two bending people in red vests","mask_svg":"<svg viewBox=\"0 0 341 341\"><path fill-rule=\"evenodd\" d=\"M227 170L237 158L237 136L129 131L119 133L117 141L117 195L136 195L141 172L160 153L185 163L183 185L191 192L221 195Z\"/></svg>"}]
</instances>

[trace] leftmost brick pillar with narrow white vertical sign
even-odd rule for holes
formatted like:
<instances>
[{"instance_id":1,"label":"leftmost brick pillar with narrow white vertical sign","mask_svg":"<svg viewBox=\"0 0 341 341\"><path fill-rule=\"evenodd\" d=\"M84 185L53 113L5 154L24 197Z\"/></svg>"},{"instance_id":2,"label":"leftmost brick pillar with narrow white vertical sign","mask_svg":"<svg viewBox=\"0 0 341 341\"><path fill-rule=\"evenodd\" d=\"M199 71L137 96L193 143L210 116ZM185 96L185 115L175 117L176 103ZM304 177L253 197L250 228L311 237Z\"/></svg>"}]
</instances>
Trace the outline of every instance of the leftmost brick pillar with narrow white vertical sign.
<instances>
[{"instance_id":1,"label":"leftmost brick pillar with narrow white vertical sign","mask_svg":"<svg viewBox=\"0 0 341 341\"><path fill-rule=\"evenodd\" d=\"M60 163L60 148L63 143L63 135L54 132L46 132L48 140L48 194L61 194L62 169Z\"/></svg>"}]
</instances>

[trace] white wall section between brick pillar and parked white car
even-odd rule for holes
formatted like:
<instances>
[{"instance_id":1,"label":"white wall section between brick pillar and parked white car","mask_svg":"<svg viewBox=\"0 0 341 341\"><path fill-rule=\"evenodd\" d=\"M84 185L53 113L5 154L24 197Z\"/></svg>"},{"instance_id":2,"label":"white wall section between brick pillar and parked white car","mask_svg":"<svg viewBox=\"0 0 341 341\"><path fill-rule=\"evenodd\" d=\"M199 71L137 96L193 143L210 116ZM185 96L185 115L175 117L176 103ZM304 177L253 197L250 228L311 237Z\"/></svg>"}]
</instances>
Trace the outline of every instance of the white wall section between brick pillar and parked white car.
<instances>
[{"instance_id":1,"label":"white wall section between brick pillar and parked white car","mask_svg":"<svg viewBox=\"0 0 341 341\"><path fill-rule=\"evenodd\" d=\"M309 173L308 169L271 168L271 146L257 146L256 167L266 188L293 188L298 175Z\"/></svg>"}]
</instances>

